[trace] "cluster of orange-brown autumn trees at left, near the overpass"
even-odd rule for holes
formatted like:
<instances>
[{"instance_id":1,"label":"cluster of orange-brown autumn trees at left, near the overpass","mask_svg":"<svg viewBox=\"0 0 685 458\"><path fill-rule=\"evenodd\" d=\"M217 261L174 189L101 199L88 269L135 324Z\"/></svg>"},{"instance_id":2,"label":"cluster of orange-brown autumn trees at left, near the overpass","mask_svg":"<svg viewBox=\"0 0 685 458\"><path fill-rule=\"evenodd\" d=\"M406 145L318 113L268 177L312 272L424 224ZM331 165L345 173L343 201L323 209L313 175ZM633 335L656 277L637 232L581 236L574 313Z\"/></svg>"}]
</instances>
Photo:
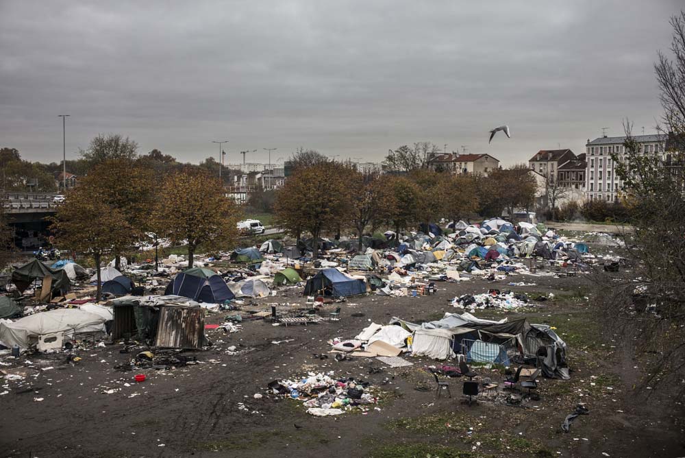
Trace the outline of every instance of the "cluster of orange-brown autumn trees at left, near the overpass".
<instances>
[{"instance_id":1,"label":"cluster of orange-brown autumn trees at left, near the overpass","mask_svg":"<svg viewBox=\"0 0 685 458\"><path fill-rule=\"evenodd\" d=\"M61 248L92 254L98 277L105 254L119 267L120 256L150 232L186 243L189 267L199 248L226 249L236 240L240 208L203 167L177 166L159 152L138 156L136 143L121 136L96 138L82 156L89 172L66 193L51 229Z\"/></svg>"}]
</instances>

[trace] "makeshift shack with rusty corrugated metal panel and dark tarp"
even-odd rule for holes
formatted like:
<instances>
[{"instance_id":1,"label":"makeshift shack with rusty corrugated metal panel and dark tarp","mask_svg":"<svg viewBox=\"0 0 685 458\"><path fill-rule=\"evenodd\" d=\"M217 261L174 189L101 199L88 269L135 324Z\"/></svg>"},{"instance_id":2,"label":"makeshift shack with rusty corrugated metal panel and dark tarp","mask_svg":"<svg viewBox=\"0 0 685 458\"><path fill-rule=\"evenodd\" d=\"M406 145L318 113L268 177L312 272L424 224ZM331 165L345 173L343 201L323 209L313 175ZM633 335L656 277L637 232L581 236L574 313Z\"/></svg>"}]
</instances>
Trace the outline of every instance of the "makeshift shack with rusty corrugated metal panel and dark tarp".
<instances>
[{"instance_id":1,"label":"makeshift shack with rusty corrugated metal panel and dark tarp","mask_svg":"<svg viewBox=\"0 0 685 458\"><path fill-rule=\"evenodd\" d=\"M180 302L180 303L179 303ZM161 348L197 350L204 343L205 311L187 298L169 296L112 300L112 339L148 341Z\"/></svg>"}]
</instances>

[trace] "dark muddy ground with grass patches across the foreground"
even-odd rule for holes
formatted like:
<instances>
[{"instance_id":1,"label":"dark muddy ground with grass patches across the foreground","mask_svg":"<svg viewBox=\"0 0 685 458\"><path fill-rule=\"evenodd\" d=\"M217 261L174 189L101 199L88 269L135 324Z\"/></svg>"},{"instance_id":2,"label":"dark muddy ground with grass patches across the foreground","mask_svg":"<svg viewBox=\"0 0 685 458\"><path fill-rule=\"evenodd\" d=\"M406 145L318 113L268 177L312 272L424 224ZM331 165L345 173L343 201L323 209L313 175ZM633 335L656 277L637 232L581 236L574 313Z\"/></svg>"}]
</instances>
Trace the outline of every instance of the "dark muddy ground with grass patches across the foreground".
<instances>
[{"instance_id":1,"label":"dark muddy ground with grass patches across the foreground","mask_svg":"<svg viewBox=\"0 0 685 458\"><path fill-rule=\"evenodd\" d=\"M536 285L508 287L509 281ZM539 401L510 407L484 400L469 407L462 403L460 378L451 379L452 398L436 399L434 391L415 389L434 386L421 370L434 361L408 357L412 367L391 369L375 359L336 362L313 356L329 350L328 339L353 337L369 321L384 324L392 316L434 320L446 311L461 312L448 302L454 296L490 288L527 291L533 297L554 295L521 313L475 313L497 319L525 315L531 322L556 326L569 345L571 380L543 379ZM343 304L340 322L286 328L256 321L243 323L239 333L212 331L208 335L219 349L197 352L203 363L164 372L116 370L132 357L121 354L119 344L81 351L82 360L74 365L64 363L63 355L23 357L22 365L29 360L38 371L24 383L3 383L6 388L0 391L8 394L0 396L0 456L685 456L682 405L659 390L648 391L649 398L636 394L640 363L609 326L597 323L598 313L586 300L588 288L582 277L512 276L495 282L440 283L436 296L423 298L351 298ZM304 302L295 290L286 300ZM353 317L354 312L364 316ZM229 314L210 315L208 322L222 322ZM293 340L271 343L287 339ZM227 354L231 345L240 352ZM382 367L382 372L369 374L371 367ZM301 402L267 396L266 385L276 378L331 370L377 385L382 390L379 410L315 418L305 413ZM475 371L503 380L497 370ZM147 374L147 381L136 384L133 376L138 372ZM117 391L106 393L112 389ZM264 398L253 398L256 393ZM562 420L578 402L584 402L590 414L577 418L570 433L562 433Z\"/></svg>"}]
</instances>

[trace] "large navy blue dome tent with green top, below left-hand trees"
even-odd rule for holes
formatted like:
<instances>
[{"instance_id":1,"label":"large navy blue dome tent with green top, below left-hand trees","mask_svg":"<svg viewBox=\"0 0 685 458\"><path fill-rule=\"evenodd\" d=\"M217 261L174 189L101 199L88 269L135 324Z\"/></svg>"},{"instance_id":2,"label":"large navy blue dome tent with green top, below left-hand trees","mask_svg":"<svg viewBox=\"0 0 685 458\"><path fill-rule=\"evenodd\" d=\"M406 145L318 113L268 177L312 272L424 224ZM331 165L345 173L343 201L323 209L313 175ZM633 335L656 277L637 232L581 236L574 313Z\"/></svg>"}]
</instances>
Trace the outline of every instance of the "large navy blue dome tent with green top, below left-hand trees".
<instances>
[{"instance_id":1,"label":"large navy blue dome tent with green top, below left-hand trees","mask_svg":"<svg viewBox=\"0 0 685 458\"><path fill-rule=\"evenodd\" d=\"M219 304L236 297L221 276L203 267L193 267L175 276L166 287L164 294L174 294L212 304Z\"/></svg>"}]
</instances>

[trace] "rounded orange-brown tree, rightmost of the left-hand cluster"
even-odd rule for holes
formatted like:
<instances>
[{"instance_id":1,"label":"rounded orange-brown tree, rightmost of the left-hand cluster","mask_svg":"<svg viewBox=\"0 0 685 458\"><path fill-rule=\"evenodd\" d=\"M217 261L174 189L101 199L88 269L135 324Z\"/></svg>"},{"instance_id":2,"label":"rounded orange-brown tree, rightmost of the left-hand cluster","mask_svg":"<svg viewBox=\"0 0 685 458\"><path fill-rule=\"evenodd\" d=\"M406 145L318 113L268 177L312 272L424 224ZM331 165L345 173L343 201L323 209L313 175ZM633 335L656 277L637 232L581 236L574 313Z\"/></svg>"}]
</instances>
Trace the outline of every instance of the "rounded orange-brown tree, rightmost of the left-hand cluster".
<instances>
[{"instance_id":1,"label":"rounded orange-brown tree, rightmost of the left-hand cluster","mask_svg":"<svg viewBox=\"0 0 685 458\"><path fill-rule=\"evenodd\" d=\"M225 197L219 178L197 169L184 169L164 180L151 223L158 236L169 237L173 243L187 243L188 267L192 267L199 248L233 247L240 217L240 208Z\"/></svg>"}]
</instances>

